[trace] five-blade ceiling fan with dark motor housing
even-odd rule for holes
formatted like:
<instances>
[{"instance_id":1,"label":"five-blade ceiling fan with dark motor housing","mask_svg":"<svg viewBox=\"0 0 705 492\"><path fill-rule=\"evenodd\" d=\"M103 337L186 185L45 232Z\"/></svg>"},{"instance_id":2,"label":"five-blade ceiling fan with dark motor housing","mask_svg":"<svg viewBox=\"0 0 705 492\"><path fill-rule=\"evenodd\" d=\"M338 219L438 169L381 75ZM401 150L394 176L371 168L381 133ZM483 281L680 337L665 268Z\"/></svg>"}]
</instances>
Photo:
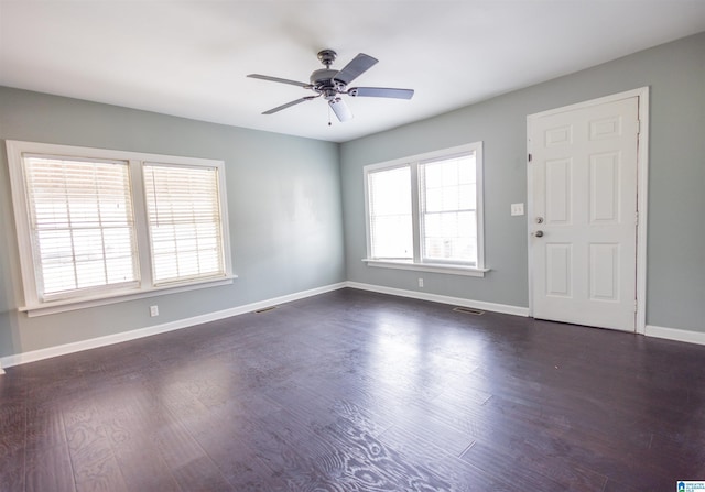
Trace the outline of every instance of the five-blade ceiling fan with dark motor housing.
<instances>
[{"instance_id":1,"label":"five-blade ceiling fan with dark motor housing","mask_svg":"<svg viewBox=\"0 0 705 492\"><path fill-rule=\"evenodd\" d=\"M273 114L278 111L281 111L282 109L291 108L292 106L299 105L301 102L323 97L328 101L330 109L333 109L333 112L338 118L338 120L345 122L352 119L352 113L340 97L341 95L348 95L351 97L384 97L393 99L411 99L414 95L413 89L391 89L386 87L351 87L348 89L348 85L352 80L367 72L379 61L369 55L366 55L365 53L360 53L355 58L352 58L350 63L343 67L341 70L335 70L330 68L330 65L333 64L333 62L335 62L336 57L337 53L333 50L323 50L318 52L318 59L323 65L325 65L325 68L314 70L311 74L308 83L290 80L286 78L270 77L269 75L248 75L248 77L250 78L259 78L262 80L270 80L280 84L290 84L292 86L299 86L304 89L313 90L315 92L314 96L306 96L302 97L301 99L286 102L285 105L278 106L276 108L272 108L269 111L264 111L262 114ZM330 122L328 122L328 124L330 124Z\"/></svg>"}]
</instances>

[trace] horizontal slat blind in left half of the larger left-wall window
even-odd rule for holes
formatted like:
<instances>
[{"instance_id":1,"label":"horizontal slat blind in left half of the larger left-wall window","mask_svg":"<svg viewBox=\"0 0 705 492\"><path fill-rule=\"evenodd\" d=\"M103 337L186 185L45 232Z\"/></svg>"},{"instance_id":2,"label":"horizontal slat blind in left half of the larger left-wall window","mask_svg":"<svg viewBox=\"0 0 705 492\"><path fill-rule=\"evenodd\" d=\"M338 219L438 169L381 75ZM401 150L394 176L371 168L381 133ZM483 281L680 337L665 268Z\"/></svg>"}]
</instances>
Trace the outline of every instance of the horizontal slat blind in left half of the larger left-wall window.
<instances>
[{"instance_id":1,"label":"horizontal slat blind in left half of the larger left-wall window","mask_svg":"<svg viewBox=\"0 0 705 492\"><path fill-rule=\"evenodd\" d=\"M127 162L24 155L41 298L138 281Z\"/></svg>"}]
</instances>

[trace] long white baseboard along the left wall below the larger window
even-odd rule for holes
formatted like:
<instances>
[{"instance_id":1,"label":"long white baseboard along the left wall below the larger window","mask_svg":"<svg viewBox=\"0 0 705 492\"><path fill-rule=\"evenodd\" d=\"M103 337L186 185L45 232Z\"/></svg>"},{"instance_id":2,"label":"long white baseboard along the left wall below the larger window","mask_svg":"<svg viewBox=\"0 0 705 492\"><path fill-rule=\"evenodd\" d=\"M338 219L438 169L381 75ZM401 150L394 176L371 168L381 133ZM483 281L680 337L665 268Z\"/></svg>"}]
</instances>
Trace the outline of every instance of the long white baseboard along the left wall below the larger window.
<instances>
[{"instance_id":1,"label":"long white baseboard along the left wall below the larger window","mask_svg":"<svg viewBox=\"0 0 705 492\"><path fill-rule=\"evenodd\" d=\"M243 306L234 307L230 309L224 309L215 313L208 313L206 315L194 316L192 318L178 319L176 321L165 322L163 325L150 326L147 328L137 328L129 331L122 331L120 334L107 335L105 337L91 338L88 340L82 340L72 343L64 343L56 347L48 347L46 349L32 350L30 352L17 353L13 356L7 356L0 358L0 374L4 373L2 368L10 368L12 365L25 364L28 362L35 362L43 359L50 359L52 357L65 356L67 353L79 352L82 350L95 349L98 347L105 347L112 343L120 343L123 341L135 340L138 338L151 337L152 335L164 334L166 331L178 330L182 328L188 328L191 326L200 325L204 322L216 321L218 319L229 318L231 316L238 316L253 310L262 309L278 304L290 303L292 300L303 299L305 297L315 296L318 294L325 294L326 292L337 291L346 287L345 282L338 284L326 285L324 287L312 288L310 291L302 291L294 294L289 294L281 297L274 297L272 299L260 300L252 304L246 304Z\"/></svg>"}]
</instances>

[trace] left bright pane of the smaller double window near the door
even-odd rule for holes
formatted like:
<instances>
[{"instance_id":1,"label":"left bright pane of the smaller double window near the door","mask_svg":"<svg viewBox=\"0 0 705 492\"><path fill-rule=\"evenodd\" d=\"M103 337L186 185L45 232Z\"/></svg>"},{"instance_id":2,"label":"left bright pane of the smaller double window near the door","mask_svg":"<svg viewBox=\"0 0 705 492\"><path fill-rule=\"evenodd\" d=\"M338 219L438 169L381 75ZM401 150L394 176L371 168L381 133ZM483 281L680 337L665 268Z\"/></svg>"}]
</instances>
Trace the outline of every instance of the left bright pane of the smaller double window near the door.
<instances>
[{"instance_id":1,"label":"left bright pane of the smaller double window near the door","mask_svg":"<svg viewBox=\"0 0 705 492\"><path fill-rule=\"evenodd\" d=\"M367 177L371 256L413 259L411 168L376 171Z\"/></svg>"}]
</instances>

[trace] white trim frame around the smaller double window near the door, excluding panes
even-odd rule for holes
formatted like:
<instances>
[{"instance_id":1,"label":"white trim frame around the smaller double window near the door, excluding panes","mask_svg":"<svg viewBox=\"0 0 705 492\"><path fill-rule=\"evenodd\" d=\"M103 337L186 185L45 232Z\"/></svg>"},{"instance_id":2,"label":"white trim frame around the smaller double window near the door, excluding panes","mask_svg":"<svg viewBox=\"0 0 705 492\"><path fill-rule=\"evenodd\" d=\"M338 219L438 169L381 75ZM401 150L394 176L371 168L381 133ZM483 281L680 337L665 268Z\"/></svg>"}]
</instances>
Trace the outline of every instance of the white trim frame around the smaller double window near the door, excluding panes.
<instances>
[{"instance_id":1,"label":"white trim frame around the smaller double window near the door, excluding panes","mask_svg":"<svg viewBox=\"0 0 705 492\"><path fill-rule=\"evenodd\" d=\"M467 152L475 152L476 155L476 199L477 199L477 266L465 266L462 263L446 263L446 262L423 262L421 259L421 219L419 216L419 179L416 176L416 168L420 163L424 161L433 161L443 157L449 157L457 154ZM372 244L370 236L370 210L369 210L369 189L368 189L368 174L380 170L393 170L394 167L412 166L412 220L413 220L413 242L414 242L414 259L411 260L390 260L390 259L376 259L372 258ZM482 142L474 142L465 145L458 145L451 149L443 149L440 151L427 152L424 154L412 155L409 157L397 158L378 164L370 164L362 168L362 179L365 186L365 233L367 241L367 256L362 261L368 266L377 266L384 269L395 270L412 270L419 272L434 272L446 273L453 275L466 275L484 277L485 273L490 269L485 266L485 197L482 193L484 188L484 155L482 155Z\"/></svg>"}]
</instances>

